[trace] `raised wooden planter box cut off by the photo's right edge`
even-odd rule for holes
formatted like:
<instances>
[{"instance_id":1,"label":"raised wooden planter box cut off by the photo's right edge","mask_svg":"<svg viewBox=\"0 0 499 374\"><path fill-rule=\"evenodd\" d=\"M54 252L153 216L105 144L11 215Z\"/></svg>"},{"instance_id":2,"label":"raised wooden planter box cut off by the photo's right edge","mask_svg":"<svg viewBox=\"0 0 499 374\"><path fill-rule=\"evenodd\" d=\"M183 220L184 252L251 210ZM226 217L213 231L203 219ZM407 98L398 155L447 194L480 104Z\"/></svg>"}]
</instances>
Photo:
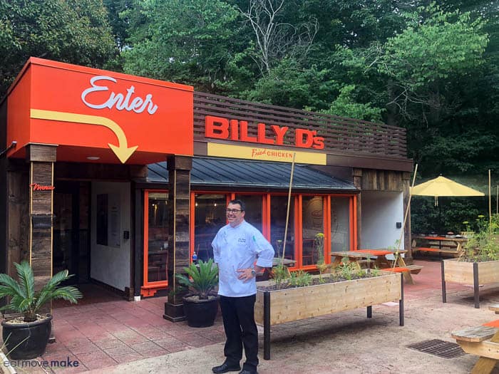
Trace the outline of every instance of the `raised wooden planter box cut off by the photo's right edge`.
<instances>
[{"instance_id":1,"label":"raised wooden planter box cut off by the photo's right edge","mask_svg":"<svg viewBox=\"0 0 499 374\"><path fill-rule=\"evenodd\" d=\"M447 302L446 282L473 284L475 308L480 308L480 284L499 282L499 261L442 261L442 302Z\"/></svg>"}]
</instances>

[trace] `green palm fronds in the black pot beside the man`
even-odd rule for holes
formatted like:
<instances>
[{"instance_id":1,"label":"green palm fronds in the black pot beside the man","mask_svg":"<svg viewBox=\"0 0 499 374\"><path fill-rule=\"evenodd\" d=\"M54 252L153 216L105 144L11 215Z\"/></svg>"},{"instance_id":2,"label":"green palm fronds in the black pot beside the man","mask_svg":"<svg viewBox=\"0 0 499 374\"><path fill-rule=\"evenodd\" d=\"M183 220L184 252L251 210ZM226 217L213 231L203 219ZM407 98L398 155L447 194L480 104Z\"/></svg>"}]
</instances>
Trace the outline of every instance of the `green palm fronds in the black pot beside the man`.
<instances>
[{"instance_id":1,"label":"green palm fronds in the black pot beside the man","mask_svg":"<svg viewBox=\"0 0 499 374\"><path fill-rule=\"evenodd\" d=\"M207 299L218 284L218 268L214 266L213 259L207 262L200 260L196 265L191 262L184 268L185 274L175 274L178 283L187 287L200 299ZM192 279L189 279L190 278Z\"/></svg>"}]
</instances>

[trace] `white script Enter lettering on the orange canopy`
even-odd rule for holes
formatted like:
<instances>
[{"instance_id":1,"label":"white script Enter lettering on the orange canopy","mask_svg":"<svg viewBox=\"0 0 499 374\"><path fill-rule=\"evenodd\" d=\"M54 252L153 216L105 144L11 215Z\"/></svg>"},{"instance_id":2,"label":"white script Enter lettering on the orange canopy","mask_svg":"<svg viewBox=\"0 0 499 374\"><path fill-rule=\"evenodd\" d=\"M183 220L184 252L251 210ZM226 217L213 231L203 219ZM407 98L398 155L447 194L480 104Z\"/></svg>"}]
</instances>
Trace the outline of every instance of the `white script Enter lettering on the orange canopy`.
<instances>
[{"instance_id":1,"label":"white script Enter lettering on the orange canopy","mask_svg":"<svg viewBox=\"0 0 499 374\"><path fill-rule=\"evenodd\" d=\"M155 105L153 103L153 95L150 93L145 95L145 99L140 98L139 96L132 98L133 94L135 93L135 87L133 87L133 85L130 85L130 88L127 88L126 95L124 95L123 93L115 93L114 91L111 91L107 100L101 100L100 102L94 97L93 100L98 101L98 103L96 103L92 100L92 97L95 95L91 95L91 93L98 93L100 91L109 90L107 85L98 85L97 83L99 80L110 80L113 83L117 83L117 80L115 80L115 78L111 78L108 76L95 76L91 78L90 84L92 85L92 87L87 88L83 91L83 93L81 93L81 100L88 107L93 109L112 109L113 107L115 107L118 110L124 109L128 112L133 111L135 113L142 113L145 108L147 108L149 114L154 114L156 110L158 110L158 105Z\"/></svg>"}]
</instances>

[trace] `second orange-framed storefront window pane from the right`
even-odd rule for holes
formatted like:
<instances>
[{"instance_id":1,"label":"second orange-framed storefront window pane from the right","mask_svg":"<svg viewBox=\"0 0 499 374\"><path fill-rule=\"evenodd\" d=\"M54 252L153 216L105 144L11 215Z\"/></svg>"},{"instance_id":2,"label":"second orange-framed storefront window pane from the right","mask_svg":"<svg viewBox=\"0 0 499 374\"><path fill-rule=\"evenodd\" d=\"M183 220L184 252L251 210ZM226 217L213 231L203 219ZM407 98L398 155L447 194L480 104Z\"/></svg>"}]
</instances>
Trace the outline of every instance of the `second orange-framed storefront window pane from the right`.
<instances>
[{"instance_id":1,"label":"second orange-framed storefront window pane from the right","mask_svg":"<svg viewBox=\"0 0 499 374\"><path fill-rule=\"evenodd\" d=\"M316 234L324 234L324 209L321 196L302 197L302 264L303 266L317 264L319 259L324 261L324 251L314 246Z\"/></svg>"}]
</instances>

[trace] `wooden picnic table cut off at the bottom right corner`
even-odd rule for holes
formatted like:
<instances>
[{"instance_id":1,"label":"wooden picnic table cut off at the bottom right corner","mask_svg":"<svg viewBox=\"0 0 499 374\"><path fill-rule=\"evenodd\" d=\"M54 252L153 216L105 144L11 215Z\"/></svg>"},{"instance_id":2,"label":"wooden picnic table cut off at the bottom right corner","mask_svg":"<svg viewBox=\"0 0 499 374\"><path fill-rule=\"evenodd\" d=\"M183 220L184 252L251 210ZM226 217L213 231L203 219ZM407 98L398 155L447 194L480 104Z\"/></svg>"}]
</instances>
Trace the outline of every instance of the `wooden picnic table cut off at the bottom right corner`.
<instances>
[{"instance_id":1,"label":"wooden picnic table cut off at the bottom right corner","mask_svg":"<svg viewBox=\"0 0 499 374\"><path fill-rule=\"evenodd\" d=\"M499 314L499 305L489 307ZM499 320L483 323L482 326L453 331L452 337L463 348L465 353L478 355L478 361L473 366L473 374L490 374L499 360Z\"/></svg>"}]
</instances>

